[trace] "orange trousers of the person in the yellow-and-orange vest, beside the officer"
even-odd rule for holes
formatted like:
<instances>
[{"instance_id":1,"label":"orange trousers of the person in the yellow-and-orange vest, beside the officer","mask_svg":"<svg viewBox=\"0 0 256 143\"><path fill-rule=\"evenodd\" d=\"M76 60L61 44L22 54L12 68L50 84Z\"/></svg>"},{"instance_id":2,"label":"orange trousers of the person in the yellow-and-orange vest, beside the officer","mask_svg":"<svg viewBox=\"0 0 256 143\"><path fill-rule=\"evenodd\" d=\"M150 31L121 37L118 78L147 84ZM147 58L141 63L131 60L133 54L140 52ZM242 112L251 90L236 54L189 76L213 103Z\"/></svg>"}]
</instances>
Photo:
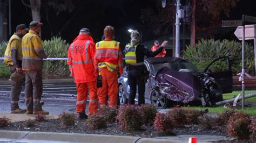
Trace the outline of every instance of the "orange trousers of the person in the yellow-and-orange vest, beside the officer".
<instances>
[{"instance_id":1,"label":"orange trousers of the person in the yellow-and-orange vest, beside the officer","mask_svg":"<svg viewBox=\"0 0 256 143\"><path fill-rule=\"evenodd\" d=\"M109 107L117 108L117 70L109 71L106 67L100 69L102 75L102 87L98 88L99 105L104 107L107 103L107 95L109 95Z\"/></svg>"}]
</instances>

